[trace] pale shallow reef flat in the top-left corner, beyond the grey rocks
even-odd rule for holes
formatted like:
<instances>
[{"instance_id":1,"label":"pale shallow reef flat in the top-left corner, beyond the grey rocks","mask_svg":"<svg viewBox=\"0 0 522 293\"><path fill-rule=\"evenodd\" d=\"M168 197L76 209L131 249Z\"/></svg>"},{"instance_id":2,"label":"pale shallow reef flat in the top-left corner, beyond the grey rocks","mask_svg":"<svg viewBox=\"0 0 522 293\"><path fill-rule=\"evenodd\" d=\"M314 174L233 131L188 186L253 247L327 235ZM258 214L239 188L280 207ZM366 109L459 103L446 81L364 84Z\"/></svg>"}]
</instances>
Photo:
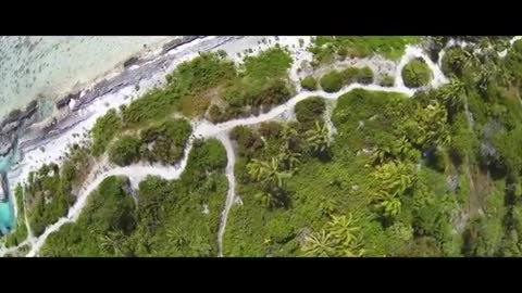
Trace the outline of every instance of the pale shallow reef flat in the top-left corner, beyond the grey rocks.
<instances>
[{"instance_id":1,"label":"pale shallow reef flat in the top-left corner, beyond the grey rocks","mask_svg":"<svg viewBox=\"0 0 522 293\"><path fill-rule=\"evenodd\" d=\"M0 120L39 98L55 101L69 91L86 88L121 67L126 59L141 58L176 38L4 37L0 41Z\"/></svg>"}]
</instances>

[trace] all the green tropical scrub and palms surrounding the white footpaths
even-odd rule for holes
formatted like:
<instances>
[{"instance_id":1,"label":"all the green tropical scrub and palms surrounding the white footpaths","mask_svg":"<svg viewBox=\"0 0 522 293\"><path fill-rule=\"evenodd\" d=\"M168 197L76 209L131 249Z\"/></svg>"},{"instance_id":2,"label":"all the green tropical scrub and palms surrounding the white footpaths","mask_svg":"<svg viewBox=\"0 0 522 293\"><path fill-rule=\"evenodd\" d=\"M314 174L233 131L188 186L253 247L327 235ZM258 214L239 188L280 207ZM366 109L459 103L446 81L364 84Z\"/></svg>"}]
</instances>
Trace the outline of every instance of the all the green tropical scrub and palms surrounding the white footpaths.
<instances>
[{"instance_id":1,"label":"all the green tropical scrub and palms surrounding the white footpaths","mask_svg":"<svg viewBox=\"0 0 522 293\"><path fill-rule=\"evenodd\" d=\"M470 46L445 49L449 82L436 89L425 61L413 59L400 73L407 87L422 89L412 97L360 88L336 100L315 94L296 104L295 120L231 129L236 201L223 255L520 256L522 41L500 58L507 38L460 40ZM318 37L309 50L320 67L375 54L398 60L408 43L419 42L430 43L433 59L448 41ZM33 232L66 214L92 157L174 165L186 151L191 119L219 124L289 100L296 93L291 64L289 52L276 47L241 65L224 52L182 63L166 87L98 119L91 145L75 146L63 166L44 166L16 190ZM299 82L330 94L374 84L374 75L347 67ZM380 82L393 87L396 78ZM215 256L231 188L227 163L220 140L196 139L178 179L150 176L133 190L127 178L108 177L77 221L49 235L40 255ZM14 245L26 232L18 233Z\"/></svg>"}]
</instances>

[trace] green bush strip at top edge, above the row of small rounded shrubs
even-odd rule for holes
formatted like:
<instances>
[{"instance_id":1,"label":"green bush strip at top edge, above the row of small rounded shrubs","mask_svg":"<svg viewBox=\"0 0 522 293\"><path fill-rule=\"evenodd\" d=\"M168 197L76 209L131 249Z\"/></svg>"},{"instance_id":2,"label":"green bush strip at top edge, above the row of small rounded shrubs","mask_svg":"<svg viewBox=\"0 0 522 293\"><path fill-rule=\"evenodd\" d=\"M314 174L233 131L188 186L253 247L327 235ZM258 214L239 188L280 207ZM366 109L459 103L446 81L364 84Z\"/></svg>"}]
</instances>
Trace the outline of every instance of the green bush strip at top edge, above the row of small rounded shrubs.
<instances>
[{"instance_id":1,"label":"green bush strip at top edge, above the row of small rounded shrubs","mask_svg":"<svg viewBox=\"0 0 522 293\"><path fill-rule=\"evenodd\" d=\"M332 63L338 58L365 58L381 54L398 60L408 43L420 41L415 36L319 36L309 48L314 61Z\"/></svg>"}]
</instances>

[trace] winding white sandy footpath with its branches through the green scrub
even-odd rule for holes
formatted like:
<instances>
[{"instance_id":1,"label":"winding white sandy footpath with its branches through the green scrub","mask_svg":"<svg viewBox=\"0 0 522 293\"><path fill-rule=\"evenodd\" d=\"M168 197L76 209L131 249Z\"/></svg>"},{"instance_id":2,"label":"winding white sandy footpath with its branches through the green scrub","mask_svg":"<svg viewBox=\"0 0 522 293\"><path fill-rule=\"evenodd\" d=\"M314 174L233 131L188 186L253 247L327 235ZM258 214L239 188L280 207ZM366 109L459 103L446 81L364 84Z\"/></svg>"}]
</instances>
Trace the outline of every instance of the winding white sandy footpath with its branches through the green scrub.
<instances>
[{"instance_id":1,"label":"winding white sandy footpath with its branches through the green scrub","mask_svg":"<svg viewBox=\"0 0 522 293\"><path fill-rule=\"evenodd\" d=\"M306 49L298 49L298 50L306 50ZM192 135L190 136L187 142L182 160L175 166L138 163L138 164L129 165L126 167L117 167L117 166L111 165L108 162L107 157L104 157L90 171L88 178L84 182L84 186L80 188L76 203L70 208L66 217L60 218L57 222L47 227L45 232L38 238L34 238L30 235L27 240L25 240L21 245L16 247L12 247L9 250L5 250L5 249L0 250L0 256L8 253L14 253L16 252L17 249L20 249L22 245L25 245L27 243L32 244L30 251L27 254L27 256L38 256L38 253L41 246L45 244L49 234L58 231L63 225L67 222L76 221L76 219L78 218L79 214L82 213L82 209L84 208L87 202L89 194L91 194L92 191L96 190L96 188L100 184L100 182L103 179L110 176L127 176L130 180L133 188L137 188L139 181L145 179L148 175L160 176L167 180L177 179L179 178L179 176L182 175L182 173L184 171L187 165L188 154L190 153L190 150L192 148L194 140L196 138L203 138L203 139L215 138L215 139L219 139L224 145L226 150L226 156L227 156L226 178L228 180L228 191L227 191L227 196L224 203L223 211L221 213L220 227L217 231L217 247L219 247L217 255L221 257L223 256L223 235L226 229L226 221L227 221L229 209L235 202L235 195L236 195L235 194L235 177L234 177L234 164L236 161L236 155L235 155L233 143L228 138L228 131L231 129L239 125L243 125L243 126L254 125L262 122L273 120L275 118L281 118L283 120L290 120L295 116L294 115L295 105L298 102L310 97L322 97L324 99L335 101L337 100L338 97L353 89L400 92L407 97L411 97L417 91L424 90L425 88L418 88L418 89L407 88L403 85L400 73L402 71L402 67L409 61L417 58L422 58L433 72L433 78L428 87L432 87L432 88L439 87L440 85L448 82L448 79L444 76L440 69L440 60L442 60L442 56L444 55L444 52L445 50L439 52L438 62L437 64L435 64L430 60L427 54L422 51L422 49L414 46L408 46L403 56L397 64L396 76L395 76L396 82L394 87L351 84L349 86L345 86L341 90L335 93L328 93L322 90L315 90L315 91L302 90L299 86L299 76L296 74L297 67L300 66L302 60L300 60L301 62L299 62L299 59L296 58L294 65L290 68L290 73L294 73L294 74L290 74L290 78L293 82L296 85L296 88L299 90L299 92L298 94L289 99L286 103L275 106L270 112L258 115L258 116L250 116L247 118L228 120L228 122L215 124L215 125L208 120L192 120L191 122L192 129L194 129ZM298 54L294 52L294 56L297 56L297 55ZM306 53L301 53L300 55L304 58L309 58L309 54L307 55ZM331 111L328 114L331 115ZM328 129L332 131L333 125L328 126Z\"/></svg>"}]
</instances>

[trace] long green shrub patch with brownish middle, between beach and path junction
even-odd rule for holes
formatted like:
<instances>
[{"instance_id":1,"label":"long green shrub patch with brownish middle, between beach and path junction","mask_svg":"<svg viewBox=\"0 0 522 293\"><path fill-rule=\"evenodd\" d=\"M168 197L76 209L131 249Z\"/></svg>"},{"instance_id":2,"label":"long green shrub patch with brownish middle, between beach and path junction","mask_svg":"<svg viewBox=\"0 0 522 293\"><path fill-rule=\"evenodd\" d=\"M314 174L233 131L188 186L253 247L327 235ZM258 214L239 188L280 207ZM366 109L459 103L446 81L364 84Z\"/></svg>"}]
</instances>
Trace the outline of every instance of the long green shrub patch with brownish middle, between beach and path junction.
<instances>
[{"instance_id":1,"label":"long green shrub patch with brownish middle, between beach and path junction","mask_svg":"<svg viewBox=\"0 0 522 293\"><path fill-rule=\"evenodd\" d=\"M166 87L122 106L120 114L111 110L99 118L92 129L94 153L102 154L117 133L161 124L173 113L189 118L208 115L220 123L283 103L294 93L287 77L291 63L286 49L278 47L247 56L241 67L223 51L201 53L179 64L167 76Z\"/></svg>"}]
</instances>

